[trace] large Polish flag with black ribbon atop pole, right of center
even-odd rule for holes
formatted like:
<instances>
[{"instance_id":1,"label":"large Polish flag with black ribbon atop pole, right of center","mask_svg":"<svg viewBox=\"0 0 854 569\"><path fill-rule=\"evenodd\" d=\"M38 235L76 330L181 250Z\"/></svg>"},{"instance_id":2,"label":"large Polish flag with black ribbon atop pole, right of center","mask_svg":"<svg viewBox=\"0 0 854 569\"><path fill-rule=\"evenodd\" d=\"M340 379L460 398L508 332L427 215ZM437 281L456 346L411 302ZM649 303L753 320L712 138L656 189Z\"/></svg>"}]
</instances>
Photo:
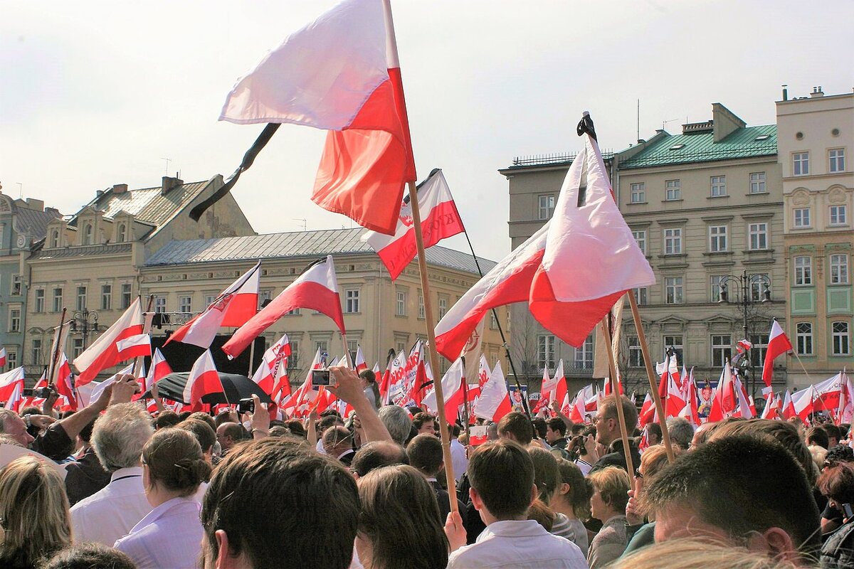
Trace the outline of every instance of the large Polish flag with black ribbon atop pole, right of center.
<instances>
[{"instance_id":1,"label":"large Polish flag with black ribbon atop pole, right of center","mask_svg":"<svg viewBox=\"0 0 854 569\"><path fill-rule=\"evenodd\" d=\"M584 204L578 206L587 165ZM459 356L491 308L514 302L579 347L627 290L655 282L611 194L599 147L589 135L564 180L553 218L490 270L436 326L436 349Z\"/></svg>"}]
</instances>

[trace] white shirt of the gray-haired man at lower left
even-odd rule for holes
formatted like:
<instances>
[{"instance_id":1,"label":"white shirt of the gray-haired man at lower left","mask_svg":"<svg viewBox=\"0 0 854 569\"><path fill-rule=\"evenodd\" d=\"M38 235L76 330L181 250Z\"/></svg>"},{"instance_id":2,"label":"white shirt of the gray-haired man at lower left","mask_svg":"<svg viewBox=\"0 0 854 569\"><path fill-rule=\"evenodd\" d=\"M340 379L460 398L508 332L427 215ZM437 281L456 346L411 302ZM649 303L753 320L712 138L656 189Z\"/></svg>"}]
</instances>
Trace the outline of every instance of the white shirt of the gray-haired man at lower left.
<instances>
[{"instance_id":1,"label":"white shirt of the gray-haired man at lower left","mask_svg":"<svg viewBox=\"0 0 854 569\"><path fill-rule=\"evenodd\" d=\"M71 508L74 542L97 542L107 547L125 536L151 511L145 498L143 468L120 468L110 483Z\"/></svg>"}]
</instances>

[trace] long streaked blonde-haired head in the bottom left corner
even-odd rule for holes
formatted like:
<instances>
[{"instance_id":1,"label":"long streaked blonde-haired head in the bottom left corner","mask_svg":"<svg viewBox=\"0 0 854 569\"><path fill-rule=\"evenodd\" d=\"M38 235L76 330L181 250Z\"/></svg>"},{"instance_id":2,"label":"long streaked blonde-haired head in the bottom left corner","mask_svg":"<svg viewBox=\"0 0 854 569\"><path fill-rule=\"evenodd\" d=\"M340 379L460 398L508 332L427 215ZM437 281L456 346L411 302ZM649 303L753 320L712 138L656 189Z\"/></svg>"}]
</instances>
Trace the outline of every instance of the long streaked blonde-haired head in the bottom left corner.
<instances>
[{"instance_id":1,"label":"long streaked blonde-haired head in the bottom left corner","mask_svg":"<svg viewBox=\"0 0 854 569\"><path fill-rule=\"evenodd\" d=\"M56 469L21 456L0 470L0 566L30 566L71 544L65 484Z\"/></svg>"}]
</instances>

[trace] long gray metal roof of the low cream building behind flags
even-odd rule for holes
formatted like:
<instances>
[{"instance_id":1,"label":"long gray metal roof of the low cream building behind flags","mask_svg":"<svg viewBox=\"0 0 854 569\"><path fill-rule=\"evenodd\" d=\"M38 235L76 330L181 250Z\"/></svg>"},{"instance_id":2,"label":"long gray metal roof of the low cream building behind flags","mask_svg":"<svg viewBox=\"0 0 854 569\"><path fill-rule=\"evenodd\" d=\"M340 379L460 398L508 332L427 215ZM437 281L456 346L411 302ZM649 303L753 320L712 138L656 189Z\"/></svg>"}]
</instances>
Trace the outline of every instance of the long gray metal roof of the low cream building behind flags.
<instances>
[{"instance_id":1,"label":"long gray metal roof of the low cream building behind flags","mask_svg":"<svg viewBox=\"0 0 854 569\"><path fill-rule=\"evenodd\" d=\"M145 266L373 253L373 249L367 243L360 241L360 236L364 232L365 229L360 228L323 229L171 241L153 254L145 262ZM430 264L464 270L477 275L477 266L469 253L436 245L427 249L426 254L427 262ZM485 258L478 258L478 261L484 273L495 266L494 261Z\"/></svg>"}]
</instances>

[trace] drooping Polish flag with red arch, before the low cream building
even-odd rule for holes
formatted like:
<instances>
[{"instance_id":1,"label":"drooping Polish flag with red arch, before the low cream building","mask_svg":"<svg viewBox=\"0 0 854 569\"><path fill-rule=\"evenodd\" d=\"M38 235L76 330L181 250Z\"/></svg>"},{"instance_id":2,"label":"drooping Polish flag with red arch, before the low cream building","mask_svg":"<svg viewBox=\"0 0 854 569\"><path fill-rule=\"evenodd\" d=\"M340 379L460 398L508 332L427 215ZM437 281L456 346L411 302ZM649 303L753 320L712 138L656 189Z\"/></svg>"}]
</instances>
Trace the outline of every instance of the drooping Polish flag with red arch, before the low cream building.
<instances>
[{"instance_id":1,"label":"drooping Polish flag with red arch, before the low cream building","mask_svg":"<svg viewBox=\"0 0 854 569\"><path fill-rule=\"evenodd\" d=\"M259 334L296 308L311 308L323 312L336 323L342 334L346 334L335 264L332 262L331 255L308 265L307 269L302 271L302 274L281 293L278 293L269 305L238 328L237 332L231 336L231 340L222 346L222 350L230 358L239 356Z\"/></svg>"}]
</instances>

